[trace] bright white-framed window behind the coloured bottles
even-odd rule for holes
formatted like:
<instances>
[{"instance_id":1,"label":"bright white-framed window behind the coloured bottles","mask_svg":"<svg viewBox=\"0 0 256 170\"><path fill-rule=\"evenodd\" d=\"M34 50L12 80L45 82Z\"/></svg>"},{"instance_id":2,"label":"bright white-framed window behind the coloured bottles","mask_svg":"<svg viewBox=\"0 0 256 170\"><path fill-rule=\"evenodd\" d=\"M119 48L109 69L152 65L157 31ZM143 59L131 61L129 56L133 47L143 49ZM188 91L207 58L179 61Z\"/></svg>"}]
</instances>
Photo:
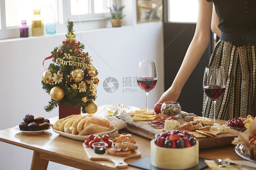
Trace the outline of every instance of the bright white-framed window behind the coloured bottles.
<instances>
[{"instance_id":1,"label":"bright white-framed window behind the coloured bottles","mask_svg":"<svg viewBox=\"0 0 256 170\"><path fill-rule=\"evenodd\" d=\"M49 9L55 13L56 31L63 32L68 20L74 22L108 20L110 7L121 0L0 0L0 39L19 37L21 20L31 26L33 10L45 18ZM47 21L44 19L44 24ZM57 27L60 27L58 29ZM45 32L45 31L44 31ZM29 34L30 36L30 34Z\"/></svg>"}]
</instances>

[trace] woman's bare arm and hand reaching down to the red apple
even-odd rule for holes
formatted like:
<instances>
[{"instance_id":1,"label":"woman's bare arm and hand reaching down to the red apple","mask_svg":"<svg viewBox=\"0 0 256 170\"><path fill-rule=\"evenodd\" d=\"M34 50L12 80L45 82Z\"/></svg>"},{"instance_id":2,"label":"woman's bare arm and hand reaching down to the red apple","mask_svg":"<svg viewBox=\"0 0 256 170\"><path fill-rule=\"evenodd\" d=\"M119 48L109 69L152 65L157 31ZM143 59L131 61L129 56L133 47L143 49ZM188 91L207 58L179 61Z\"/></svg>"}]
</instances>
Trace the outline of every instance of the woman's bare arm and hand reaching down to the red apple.
<instances>
[{"instance_id":1,"label":"woman's bare arm and hand reaching down to the red apple","mask_svg":"<svg viewBox=\"0 0 256 170\"><path fill-rule=\"evenodd\" d=\"M213 2L198 0L199 11L194 37L171 87L160 97L161 101L177 101L181 89L196 67L210 42L210 26Z\"/></svg>"}]
</instances>

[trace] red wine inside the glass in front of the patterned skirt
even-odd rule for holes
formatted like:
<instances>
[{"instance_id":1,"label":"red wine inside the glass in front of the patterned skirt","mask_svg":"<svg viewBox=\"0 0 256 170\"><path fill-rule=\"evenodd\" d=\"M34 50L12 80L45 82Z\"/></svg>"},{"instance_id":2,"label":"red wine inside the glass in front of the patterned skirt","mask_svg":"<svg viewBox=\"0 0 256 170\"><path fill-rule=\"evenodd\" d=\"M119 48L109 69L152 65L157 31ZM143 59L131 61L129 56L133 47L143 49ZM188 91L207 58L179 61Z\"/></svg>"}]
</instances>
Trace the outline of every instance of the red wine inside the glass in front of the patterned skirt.
<instances>
[{"instance_id":1,"label":"red wine inside the glass in front of the patterned skirt","mask_svg":"<svg viewBox=\"0 0 256 170\"><path fill-rule=\"evenodd\" d=\"M225 86L222 85L206 85L204 86L205 94L212 100L217 100L221 97L226 90Z\"/></svg>"}]
</instances>

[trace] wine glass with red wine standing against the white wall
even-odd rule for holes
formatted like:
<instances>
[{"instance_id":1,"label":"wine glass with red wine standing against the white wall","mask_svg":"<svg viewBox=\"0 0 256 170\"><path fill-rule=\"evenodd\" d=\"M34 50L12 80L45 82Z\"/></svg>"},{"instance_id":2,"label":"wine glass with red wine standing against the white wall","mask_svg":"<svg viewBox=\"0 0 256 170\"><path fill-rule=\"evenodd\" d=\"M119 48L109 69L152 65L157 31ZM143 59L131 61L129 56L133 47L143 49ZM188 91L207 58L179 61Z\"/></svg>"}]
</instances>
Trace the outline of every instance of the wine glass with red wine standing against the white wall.
<instances>
[{"instance_id":1,"label":"wine glass with red wine standing against the white wall","mask_svg":"<svg viewBox=\"0 0 256 170\"><path fill-rule=\"evenodd\" d=\"M157 84L157 66L155 61L139 61L137 70L137 83L146 92L146 109L148 110L148 95Z\"/></svg>"}]
</instances>

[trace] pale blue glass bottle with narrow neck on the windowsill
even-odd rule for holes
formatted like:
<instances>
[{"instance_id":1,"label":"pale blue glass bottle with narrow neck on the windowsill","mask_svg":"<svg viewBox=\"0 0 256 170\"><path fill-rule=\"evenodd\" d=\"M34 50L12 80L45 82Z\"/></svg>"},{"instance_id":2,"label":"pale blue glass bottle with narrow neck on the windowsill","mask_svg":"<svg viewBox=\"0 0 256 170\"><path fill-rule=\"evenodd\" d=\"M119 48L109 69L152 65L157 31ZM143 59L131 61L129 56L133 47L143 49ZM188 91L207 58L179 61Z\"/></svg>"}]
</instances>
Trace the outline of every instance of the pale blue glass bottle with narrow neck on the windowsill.
<instances>
[{"instance_id":1,"label":"pale blue glass bottle with narrow neck on the windowsill","mask_svg":"<svg viewBox=\"0 0 256 170\"><path fill-rule=\"evenodd\" d=\"M47 12L46 15L46 34L52 34L56 32L56 26L55 26L55 14L52 11L52 7L49 7L49 11Z\"/></svg>"}]
</instances>

